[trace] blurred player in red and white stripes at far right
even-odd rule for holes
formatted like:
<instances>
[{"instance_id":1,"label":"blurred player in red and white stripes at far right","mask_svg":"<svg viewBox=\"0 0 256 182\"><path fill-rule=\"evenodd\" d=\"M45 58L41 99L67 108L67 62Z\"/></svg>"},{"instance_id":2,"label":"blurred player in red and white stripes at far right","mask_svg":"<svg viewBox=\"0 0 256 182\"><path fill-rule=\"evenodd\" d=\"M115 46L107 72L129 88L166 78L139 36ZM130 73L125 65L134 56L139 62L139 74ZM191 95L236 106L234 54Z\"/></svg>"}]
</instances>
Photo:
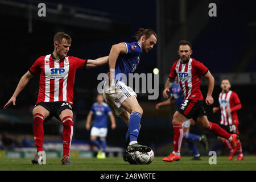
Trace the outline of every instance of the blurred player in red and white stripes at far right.
<instances>
[{"instance_id":1,"label":"blurred player in red and white stripes at far right","mask_svg":"<svg viewBox=\"0 0 256 182\"><path fill-rule=\"evenodd\" d=\"M224 78L221 80L221 89L222 92L218 96L218 102L220 103L220 106L213 107L213 113L216 113L218 110L221 110L221 121L220 126L222 129L228 131L232 134L239 135L238 131L238 115L237 110L242 108L241 102L239 97L237 96L237 93L230 90L231 84L228 79ZM236 149L234 149L228 140L222 137L218 137L218 139L221 141L224 146L226 146L229 149L230 155L228 160L232 160L234 154L236 154ZM237 140L238 145L238 156L236 160L242 160L243 159L243 153L242 153L242 144L240 139Z\"/></svg>"}]
</instances>

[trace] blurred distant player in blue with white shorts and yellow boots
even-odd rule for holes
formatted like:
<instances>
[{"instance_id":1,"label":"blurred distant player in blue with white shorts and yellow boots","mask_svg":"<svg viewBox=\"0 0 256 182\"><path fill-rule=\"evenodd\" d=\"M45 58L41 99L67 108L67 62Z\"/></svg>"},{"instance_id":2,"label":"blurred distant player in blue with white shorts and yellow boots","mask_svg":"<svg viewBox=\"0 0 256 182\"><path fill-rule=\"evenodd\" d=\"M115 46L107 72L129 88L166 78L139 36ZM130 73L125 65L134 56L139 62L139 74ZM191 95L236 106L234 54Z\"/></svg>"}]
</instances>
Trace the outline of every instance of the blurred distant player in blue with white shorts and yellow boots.
<instances>
[{"instance_id":1,"label":"blurred distant player in blue with white shorts and yellow boots","mask_svg":"<svg viewBox=\"0 0 256 182\"><path fill-rule=\"evenodd\" d=\"M92 115L94 115L94 123L92 130L90 130L90 140L94 146L98 149L97 158L106 158L106 135L108 133L108 116L111 121L111 128L115 129L115 118L108 104L104 102L102 94L98 94L96 98L97 102L92 105L92 109L86 119L86 130L90 130L90 121L92 120ZM100 137L100 142L97 138ZM101 145L100 145L101 143ZM102 150L101 150L102 148Z\"/></svg>"}]
</instances>

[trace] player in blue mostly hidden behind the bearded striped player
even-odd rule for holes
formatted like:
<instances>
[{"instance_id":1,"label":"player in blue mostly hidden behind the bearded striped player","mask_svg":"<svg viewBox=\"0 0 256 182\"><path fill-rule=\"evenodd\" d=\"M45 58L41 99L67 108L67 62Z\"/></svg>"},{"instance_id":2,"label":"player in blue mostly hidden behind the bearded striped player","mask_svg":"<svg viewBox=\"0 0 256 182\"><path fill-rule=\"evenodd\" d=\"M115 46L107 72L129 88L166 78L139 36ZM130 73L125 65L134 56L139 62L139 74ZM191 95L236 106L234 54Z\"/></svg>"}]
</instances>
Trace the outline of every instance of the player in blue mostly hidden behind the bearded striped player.
<instances>
[{"instance_id":1,"label":"player in blue mostly hidden behind the bearded striped player","mask_svg":"<svg viewBox=\"0 0 256 182\"><path fill-rule=\"evenodd\" d=\"M177 77L175 78L175 82L172 84L172 86L170 88L170 94L171 94L171 97L168 98L168 100L159 102L158 104L156 104L156 106L155 106L156 109L159 109L160 106L170 105L173 102L175 102L176 108L179 108L180 105L183 103L184 98L183 98L182 91L180 89L180 85L177 81ZM190 125L195 125L195 121L193 121L193 119L187 119L182 124L183 131L185 134L184 138L185 138L185 141L187 142L187 147L193 152L194 156L193 156L192 160L201 160L199 151L197 150L197 147L196 147L195 143L193 142L193 140L200 141L201 144L203 144L205 151L207 151L208 150L207 138L205 135L200 136L200 135L189 133Z\"/></svg>"}]
</instances>

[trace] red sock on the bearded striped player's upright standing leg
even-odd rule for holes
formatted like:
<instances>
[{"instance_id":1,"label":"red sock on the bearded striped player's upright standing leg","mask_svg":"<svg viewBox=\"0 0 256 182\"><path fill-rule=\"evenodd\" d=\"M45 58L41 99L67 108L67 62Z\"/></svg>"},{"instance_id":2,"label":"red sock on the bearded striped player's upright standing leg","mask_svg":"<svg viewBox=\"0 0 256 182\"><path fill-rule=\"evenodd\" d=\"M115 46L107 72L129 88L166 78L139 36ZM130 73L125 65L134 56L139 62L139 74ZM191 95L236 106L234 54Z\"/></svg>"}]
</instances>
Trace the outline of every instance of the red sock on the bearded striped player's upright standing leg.
<instances>
[{"instance_id":1,"label":"red sock on the bearded striped player's upright standing leg","mask_svg":"<svg viewBox=\"0 0 256 182\"><path fill-rule=\"evenodd\" d=\"M183 139L182 125L172 125L174 127L174 151L180 152L180 147Z\"/></svg>"}]
</instances>

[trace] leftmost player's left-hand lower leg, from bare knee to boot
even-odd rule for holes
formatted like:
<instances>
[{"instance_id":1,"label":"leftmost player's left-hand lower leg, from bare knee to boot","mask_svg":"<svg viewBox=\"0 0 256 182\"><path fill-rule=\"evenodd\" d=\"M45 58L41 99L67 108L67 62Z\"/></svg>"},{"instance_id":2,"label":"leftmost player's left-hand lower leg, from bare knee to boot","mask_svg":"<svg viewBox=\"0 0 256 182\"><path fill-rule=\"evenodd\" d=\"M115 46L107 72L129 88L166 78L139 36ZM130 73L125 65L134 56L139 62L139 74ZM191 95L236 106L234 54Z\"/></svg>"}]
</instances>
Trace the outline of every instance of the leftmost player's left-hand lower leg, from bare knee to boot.
<instances>
[{"instance_id":1,"label":"leftmost player's left-hand lower leg, from bare knee to boot","mask_svg":"<svg viewBox=\"0 0 256 182\"><path fill-rule=\"evenodd\" d=\"M46 110L43 106L35 106L33 111L33 133L36 145L36 155L31 160L32 164L42 164L45 163L43 159L46 159L44 155L45 152L43 151L43 138L44 138L44 128L43 128L43 121L44 118L49 116L49 111Z\"/></svg>"}]
</instances>

